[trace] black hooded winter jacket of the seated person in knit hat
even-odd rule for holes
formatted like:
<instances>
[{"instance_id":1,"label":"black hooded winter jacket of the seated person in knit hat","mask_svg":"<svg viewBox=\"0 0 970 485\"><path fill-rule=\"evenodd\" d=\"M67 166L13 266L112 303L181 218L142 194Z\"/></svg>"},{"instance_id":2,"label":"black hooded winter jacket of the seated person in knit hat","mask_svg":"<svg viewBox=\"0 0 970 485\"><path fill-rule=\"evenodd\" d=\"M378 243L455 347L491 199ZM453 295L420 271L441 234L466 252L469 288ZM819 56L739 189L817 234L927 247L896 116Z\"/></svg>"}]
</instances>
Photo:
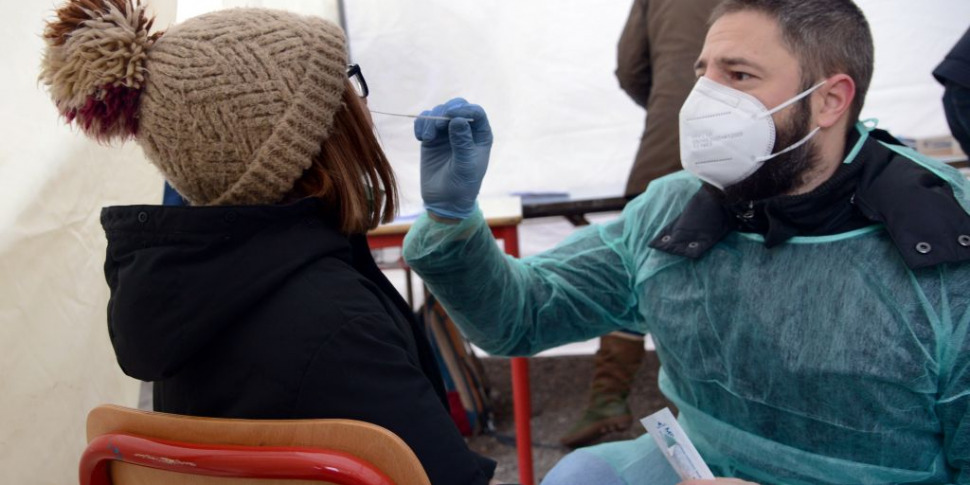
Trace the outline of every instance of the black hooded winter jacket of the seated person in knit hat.
<instances>
[{"instance_id":1,"label":"black hooded winter jacket of the seated person in knit hat","mask_svg":"<svg viewBox=\"0 0 970 485\"><path fill-rule=\"evenodd\" d=\"M111 342L126 374L155 382L157 411L358 419L404 439L435 485L493 475L407 303L318 201L109 207L101 222Z\"/></svg>"}]
</instances>

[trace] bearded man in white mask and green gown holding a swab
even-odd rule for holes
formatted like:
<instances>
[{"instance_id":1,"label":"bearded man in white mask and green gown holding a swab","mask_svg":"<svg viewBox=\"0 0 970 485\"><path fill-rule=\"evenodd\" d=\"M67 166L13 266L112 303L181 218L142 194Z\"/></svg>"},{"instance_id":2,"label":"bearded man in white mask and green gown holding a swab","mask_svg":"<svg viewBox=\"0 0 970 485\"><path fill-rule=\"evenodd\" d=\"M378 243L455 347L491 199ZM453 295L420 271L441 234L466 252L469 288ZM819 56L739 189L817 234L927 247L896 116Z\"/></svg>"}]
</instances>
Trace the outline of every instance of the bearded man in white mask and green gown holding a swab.
<instances>
[{"instance_id":1,"label":"bearded man in white mask and green gown holding a swab","mask_svg":"<svg viewBox=\"0 0 970 485\"><path fill-rule=\"evenodd\" d=\"M435 113L456 119L415 126L430 216L406 260L492 353L649 331L717 476L970 483L970 184L857 123L873 47L850 0L726 0L712 19L681 110L687 172L507 258L474 203L487 119L453 101ZM546 477L678 481L647 436Z\"/></svg>"}]
</instances>

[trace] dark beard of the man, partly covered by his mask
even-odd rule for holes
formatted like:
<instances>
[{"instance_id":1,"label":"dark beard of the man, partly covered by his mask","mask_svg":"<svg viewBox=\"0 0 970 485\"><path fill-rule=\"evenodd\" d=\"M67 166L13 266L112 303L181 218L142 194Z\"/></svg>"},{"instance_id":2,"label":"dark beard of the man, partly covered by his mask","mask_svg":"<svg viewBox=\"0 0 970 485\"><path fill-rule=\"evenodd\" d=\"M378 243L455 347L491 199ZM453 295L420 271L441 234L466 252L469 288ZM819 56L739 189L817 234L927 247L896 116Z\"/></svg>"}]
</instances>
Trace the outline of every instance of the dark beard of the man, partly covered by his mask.
<instances>
[{"instance_id":1,"label":"dark beard of the man, partly covered by his mask","mask_svg":"<svg viewBox=\"0 0 970 485\"><path fill-rule=\"evenodd\" d=\"M788 121L779 124L772 153L798 143L811 131L808 100L806 98L796 103ZM818 147L814 140L809 140L766 161L748 178L725 187L721 198L733 205L787 194L804 182L805 176L818 164L818 158Z\"/></svg>"}]
</instances>

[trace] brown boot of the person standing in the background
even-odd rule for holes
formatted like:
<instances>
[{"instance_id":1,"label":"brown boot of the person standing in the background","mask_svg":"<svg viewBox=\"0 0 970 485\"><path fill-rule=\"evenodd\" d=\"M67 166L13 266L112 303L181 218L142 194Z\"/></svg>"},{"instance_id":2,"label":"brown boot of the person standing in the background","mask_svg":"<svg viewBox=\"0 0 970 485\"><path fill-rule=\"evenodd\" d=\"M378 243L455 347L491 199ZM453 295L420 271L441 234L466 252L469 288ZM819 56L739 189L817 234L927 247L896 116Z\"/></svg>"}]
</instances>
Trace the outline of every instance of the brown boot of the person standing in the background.
<instances>
[{"instance_id":1,"label":"brown boot of the person standing in the background","mask_svg":"<svg viewBox=\"0 0 970 485\"><path fill-rule=\"evenodd\" d=\"M644 354L642 336L612 333L600 337L589 404L579 421L559 438L560 443L577 448L633 424L626 398Z\"/></svg>"}]
</instances>

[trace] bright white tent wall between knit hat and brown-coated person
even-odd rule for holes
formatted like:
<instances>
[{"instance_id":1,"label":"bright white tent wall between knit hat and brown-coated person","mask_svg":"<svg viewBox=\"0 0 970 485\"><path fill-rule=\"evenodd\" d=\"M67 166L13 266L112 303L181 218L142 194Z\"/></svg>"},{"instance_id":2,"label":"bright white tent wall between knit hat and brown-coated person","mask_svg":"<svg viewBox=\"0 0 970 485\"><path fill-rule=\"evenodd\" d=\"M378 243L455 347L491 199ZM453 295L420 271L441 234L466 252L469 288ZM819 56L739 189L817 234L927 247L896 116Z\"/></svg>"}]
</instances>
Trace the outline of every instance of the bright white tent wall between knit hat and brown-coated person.
<instances>
[{"instance_id":1,"label":"bright white tent wall between knit hat and brown-coated person","mask_svg":"<svg viewBox=\"0 0 970 485\"><path fill-rule=\"evenodd\" d=\"M488 112L495 144L483 196L583 188L615 194L643 111L613 77L630 2L354 0L347 28L372 109L417 114L461 96ZM420 208L411 121L374 122Z\"/></svg>"}]
</instances>

